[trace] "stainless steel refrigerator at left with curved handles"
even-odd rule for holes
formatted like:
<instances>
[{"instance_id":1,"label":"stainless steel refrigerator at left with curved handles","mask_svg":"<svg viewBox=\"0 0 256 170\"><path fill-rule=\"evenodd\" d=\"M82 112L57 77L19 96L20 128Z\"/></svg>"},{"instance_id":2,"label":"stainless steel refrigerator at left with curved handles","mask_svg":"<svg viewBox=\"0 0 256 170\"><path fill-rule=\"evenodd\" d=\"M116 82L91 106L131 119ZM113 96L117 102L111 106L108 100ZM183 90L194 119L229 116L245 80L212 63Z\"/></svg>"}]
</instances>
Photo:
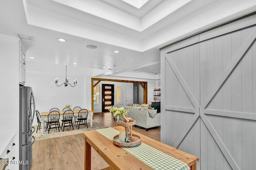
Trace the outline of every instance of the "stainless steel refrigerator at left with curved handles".
<instances>
[{"instance_id":1,"label":"stainless steel refrigerator at left with curved handles","mask_svg":"<svg viewBox=\"0 0 256 170\"><path fill-rule=\"evenodd\" d=\"M32 163L32 136L35 128L32 123L35 115L35 100L31 87L20 86L20 125L19 125L19 165L20 170L29 170Z\"/></svg>"}]
</instances>

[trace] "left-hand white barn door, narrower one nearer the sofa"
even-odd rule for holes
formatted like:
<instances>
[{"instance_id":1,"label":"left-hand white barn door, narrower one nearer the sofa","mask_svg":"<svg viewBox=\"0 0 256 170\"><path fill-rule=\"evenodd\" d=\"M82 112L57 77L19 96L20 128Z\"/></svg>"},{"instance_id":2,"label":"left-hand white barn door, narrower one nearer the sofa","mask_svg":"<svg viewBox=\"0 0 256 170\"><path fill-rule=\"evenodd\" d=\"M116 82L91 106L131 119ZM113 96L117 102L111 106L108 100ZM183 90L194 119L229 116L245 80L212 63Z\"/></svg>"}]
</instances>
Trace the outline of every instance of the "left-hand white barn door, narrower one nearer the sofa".
<instances>
[{"instance_id":1,"label":"left-hand white barn door, narrower one nearer the sofa","mask_svg":"<svg viewBox=\"0 0 256 170\"><path fill-rule=\"evenodd\" d=\"M200 157L199 43L168 53L165 57L166 117L161 113L161 131L162 121L167 121L166 143Z\"/></svg>"}]
</instances>

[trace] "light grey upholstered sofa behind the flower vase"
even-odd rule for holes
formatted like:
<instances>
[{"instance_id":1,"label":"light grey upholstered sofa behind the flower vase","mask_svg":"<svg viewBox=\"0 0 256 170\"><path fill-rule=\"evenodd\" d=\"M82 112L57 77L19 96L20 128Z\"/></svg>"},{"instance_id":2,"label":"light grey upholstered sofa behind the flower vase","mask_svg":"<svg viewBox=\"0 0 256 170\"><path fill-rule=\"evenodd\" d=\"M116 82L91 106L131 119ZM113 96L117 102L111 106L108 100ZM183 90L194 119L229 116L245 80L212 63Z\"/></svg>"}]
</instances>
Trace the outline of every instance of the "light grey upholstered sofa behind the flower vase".
<instances>
[{"instance_id":1,"label":"light grey upholstered sofa behind the flower vase","mask_svg":"<svg viewBox=\"0 0 256 170\"><path fill-rule=\"evenodd\" d=\"M127 113L128 117L131 117L136 121L137 127L142 127L148 131L154 127L160 126L160 115L161 113L156 113L156 110L148 110L145 107L134 107L134 106L120 106L125 107L126 110L129 110Z\"/></svg>"}]
</instances>

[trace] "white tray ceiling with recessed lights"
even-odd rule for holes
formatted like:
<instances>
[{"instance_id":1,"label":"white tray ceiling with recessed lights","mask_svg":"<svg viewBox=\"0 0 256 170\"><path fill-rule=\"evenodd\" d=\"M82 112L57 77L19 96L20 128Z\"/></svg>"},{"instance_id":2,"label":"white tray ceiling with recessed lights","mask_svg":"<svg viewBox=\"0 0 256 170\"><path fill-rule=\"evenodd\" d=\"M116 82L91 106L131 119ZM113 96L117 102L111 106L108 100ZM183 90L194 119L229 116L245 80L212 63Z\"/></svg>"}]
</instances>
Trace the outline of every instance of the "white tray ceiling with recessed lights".
<instances>
[{"instance_id":1,"label":"white tray ceiling with recessed lights","mask_svg":"<svg viewBox=\"0 0 256 170\"><path fill-rule=\"evenodd\" d=\"M160 47L254 11L255 0L0 0L0 33L33 36L28 71L159 74Z\"/></svg>"}]
</instances>

